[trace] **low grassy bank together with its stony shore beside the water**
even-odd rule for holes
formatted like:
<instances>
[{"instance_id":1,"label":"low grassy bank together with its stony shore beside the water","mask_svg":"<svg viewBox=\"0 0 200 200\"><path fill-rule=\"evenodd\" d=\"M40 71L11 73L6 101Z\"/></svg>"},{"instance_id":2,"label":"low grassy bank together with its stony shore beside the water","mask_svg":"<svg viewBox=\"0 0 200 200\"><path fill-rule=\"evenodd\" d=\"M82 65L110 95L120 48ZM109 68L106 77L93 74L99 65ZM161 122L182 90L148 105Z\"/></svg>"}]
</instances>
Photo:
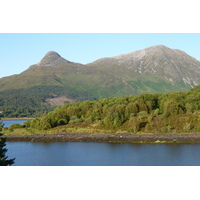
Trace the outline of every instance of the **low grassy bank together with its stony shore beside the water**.
<instances>
[{"instance_id":1,"label":"low grassy bank together with its stony shore beside the water","mask_svg":"<svg viewBox=\"0 0 200 200\"><path fill-rule=\"evenodd\" d=\"M113 142L113 143L200 143L200 133L190 132L137 132L126 127L105 128L100 122L79 122L57 126L48 130L33 128L3 128L10 142Z\"/></svg>"}]
</instances>

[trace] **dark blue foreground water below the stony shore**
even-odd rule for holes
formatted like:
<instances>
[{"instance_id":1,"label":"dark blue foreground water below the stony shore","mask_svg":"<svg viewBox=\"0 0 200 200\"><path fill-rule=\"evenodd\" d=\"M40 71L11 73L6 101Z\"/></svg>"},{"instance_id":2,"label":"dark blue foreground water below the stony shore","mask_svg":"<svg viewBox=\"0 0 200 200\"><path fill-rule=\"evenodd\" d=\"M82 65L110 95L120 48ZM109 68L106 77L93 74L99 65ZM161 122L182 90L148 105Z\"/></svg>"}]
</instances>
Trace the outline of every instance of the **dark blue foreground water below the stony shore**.
<instances>
[{"instance_id":1,"label":"dark blue foreground water below the stony shore","mask_svg":"<svg viewBox=\"0 0 200 200\"><path fill-rule=\"evenodd\" d=\"M200 144L7 142L16 166L200 166Z\"/></svg>"}]
</instances>

